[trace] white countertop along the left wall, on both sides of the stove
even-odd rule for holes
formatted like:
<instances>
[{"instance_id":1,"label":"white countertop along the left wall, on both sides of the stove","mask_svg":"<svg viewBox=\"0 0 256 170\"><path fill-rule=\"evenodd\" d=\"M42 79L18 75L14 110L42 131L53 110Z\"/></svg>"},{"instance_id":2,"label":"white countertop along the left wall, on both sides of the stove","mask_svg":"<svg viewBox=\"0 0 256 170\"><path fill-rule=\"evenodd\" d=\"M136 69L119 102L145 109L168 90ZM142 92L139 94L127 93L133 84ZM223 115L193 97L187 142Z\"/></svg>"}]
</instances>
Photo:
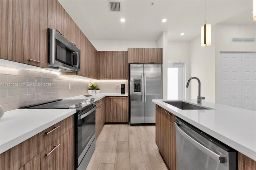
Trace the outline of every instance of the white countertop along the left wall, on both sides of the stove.
<instances>
[{"instance_id":1,"label":"white countertop along the left wall, on both sides of the stove","mask_svg":"<svg viewBox=\"0 0 256 170\"><path fill-rule=\"evenodd\" d=\"M97 101L106 96L128 96L128 94L99 93L90 97L80 95L67 99L94 97ZM0 154L74 113L76 109L16 109L5 112L0 119Z\"/></svg>"}]
</instances>

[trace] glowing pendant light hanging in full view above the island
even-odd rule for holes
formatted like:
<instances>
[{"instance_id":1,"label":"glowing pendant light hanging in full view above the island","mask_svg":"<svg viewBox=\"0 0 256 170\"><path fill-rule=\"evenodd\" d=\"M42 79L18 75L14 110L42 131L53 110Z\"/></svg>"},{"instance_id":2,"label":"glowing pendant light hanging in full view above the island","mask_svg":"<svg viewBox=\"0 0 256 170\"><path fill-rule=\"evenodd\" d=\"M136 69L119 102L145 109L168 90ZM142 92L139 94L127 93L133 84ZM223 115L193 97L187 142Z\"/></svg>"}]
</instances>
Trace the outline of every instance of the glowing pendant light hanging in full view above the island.
<instances>
[{"instance_id":1,"label":"glowing pendant light hanging in full view above the island","mask_svg":"<svg viewBox=\"0 0 256 170\"><path fill-rule=\"evenodd\" d=\"M205 0L205 24L201 26L201 46L211 45L211 24L206 24L206 0Z\"/></svg>"}]
</instances>

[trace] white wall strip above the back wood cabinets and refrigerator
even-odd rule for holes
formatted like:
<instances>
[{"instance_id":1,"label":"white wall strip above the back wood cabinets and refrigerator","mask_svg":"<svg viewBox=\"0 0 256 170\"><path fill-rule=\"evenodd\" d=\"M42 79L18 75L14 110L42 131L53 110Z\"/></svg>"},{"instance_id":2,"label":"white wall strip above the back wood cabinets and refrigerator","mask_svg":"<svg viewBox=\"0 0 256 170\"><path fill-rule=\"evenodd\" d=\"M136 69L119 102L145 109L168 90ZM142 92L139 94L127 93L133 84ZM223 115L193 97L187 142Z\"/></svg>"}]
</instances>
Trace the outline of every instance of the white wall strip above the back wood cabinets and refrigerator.
<instances>
[{"instance_id":1,"label":"white wall strip above the back wood cabinets and refrigerator","mask_svg":"<svg viewBox=\"0 0 256 170\"><path fill-rule=\"evenodd\" d=\"M128 48L156 48L156 41L91 40L98 51L127 51Z\"/></svg>"}]
</instances>

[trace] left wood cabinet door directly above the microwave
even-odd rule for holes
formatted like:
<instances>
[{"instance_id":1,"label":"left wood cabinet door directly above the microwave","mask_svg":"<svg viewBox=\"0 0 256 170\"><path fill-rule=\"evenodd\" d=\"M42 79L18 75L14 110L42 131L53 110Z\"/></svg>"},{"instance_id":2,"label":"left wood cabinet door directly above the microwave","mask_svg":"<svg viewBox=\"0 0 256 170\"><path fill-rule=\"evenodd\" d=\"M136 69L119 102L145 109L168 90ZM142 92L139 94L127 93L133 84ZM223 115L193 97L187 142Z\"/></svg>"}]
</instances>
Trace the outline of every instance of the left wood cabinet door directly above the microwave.
<instances>
[{"instance_id":1,"label":"left wood cabinet door directly above the microwave","mask_svg":"<svg viewBox=\"0 0 256 170\"><path fill-rule=\"evenodd\" d=\"M45 1L45 0L44 0ZM46 15L47 16L47 15ZM65 38L68 13L58 0L48 0L48 28L60 32Z\"/></svg>"}]
</instances>

